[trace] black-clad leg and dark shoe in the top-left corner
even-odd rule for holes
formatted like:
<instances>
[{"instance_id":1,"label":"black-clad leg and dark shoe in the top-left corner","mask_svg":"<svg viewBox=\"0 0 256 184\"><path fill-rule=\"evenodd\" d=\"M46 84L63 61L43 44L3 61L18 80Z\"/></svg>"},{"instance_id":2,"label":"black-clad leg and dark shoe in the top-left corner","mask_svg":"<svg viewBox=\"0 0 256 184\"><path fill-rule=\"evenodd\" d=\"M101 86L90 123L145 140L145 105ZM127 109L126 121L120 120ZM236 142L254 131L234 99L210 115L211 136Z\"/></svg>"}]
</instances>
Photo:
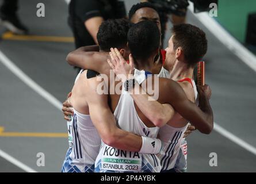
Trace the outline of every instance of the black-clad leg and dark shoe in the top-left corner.
<instances>
[{"instance_id":1,"label":"black-clad leg and dark shoe in the top-left corner","mask_svg":"<svg viewBox=\"0 0 256 184\"><path fill-rule=\"evenodd\" d=\"M0 24L16 34L27 34L28 29L17 16L18 0L3 0L0 7Z\"/></svg>"}]
</instances>

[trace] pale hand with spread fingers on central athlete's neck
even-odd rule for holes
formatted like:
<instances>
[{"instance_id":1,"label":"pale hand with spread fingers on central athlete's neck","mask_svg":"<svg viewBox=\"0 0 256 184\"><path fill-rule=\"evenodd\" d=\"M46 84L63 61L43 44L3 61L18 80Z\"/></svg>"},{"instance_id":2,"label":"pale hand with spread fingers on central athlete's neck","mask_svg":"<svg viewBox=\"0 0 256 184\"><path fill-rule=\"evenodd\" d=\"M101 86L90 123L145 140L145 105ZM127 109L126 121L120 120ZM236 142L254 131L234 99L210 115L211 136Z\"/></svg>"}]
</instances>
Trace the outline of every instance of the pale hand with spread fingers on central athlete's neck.
<instances>
[{"instance_id":1,"label":"pale hand with spread fingers on central athlete's neck","mask_svg":"<svg viewBox=\"0 0 256 184\"><path fill-rule=\"evenodd\" d=\"M117 48L111 48L109 55L111 57L111 60L108 59L109 66L114 70L114 73L122 82L130 76L133 76L134 61L131 54L129 55L129 64L125 61Z\"/></svg>"}]
</instances>

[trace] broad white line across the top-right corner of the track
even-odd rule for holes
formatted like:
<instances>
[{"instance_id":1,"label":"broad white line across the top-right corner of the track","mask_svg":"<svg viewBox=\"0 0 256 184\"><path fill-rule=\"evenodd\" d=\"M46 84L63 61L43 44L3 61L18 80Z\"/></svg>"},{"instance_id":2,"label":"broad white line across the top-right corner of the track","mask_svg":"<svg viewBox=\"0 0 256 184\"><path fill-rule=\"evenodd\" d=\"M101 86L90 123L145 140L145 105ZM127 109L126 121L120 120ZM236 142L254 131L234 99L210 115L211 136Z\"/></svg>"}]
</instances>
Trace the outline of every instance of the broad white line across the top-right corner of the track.
<instances>
[{"instance_id":1,"label":"broad white line across the top-right corner of the track","mask_svg":"<svg viewBox=\"0 0 256 184\"><path fill-rule=\"evenodd\" d=\"M221 43L226 45L232 53L256 72L256 56L253 53L232 37L231 34L214 20L214 18L210 17L208 13L193 13L193 3L191 2L189 2L188 9Z\"/></svg>"}]
</instances>

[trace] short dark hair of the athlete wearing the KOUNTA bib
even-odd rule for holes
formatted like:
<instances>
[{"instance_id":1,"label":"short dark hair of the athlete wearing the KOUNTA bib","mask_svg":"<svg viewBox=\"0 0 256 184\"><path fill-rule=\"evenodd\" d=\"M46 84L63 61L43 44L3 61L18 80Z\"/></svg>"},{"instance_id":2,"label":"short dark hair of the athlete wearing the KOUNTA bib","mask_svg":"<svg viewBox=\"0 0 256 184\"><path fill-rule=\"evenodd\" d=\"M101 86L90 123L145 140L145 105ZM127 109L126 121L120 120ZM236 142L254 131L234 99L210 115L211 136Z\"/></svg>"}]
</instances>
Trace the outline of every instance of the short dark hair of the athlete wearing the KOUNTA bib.
<instances>
[{"instance_id":1,"label":"short dark hair of the athlete wearing the KOUNTA bib","mask_svg":"<svg viewBox=\"0 0 256 184\"><path fill-rule=\"evenodd\" d=\"M159 48L160 32L154 22L141 21L131 26L127 39L134 59L147 59Z\"/></svg>"}]
</instances>

